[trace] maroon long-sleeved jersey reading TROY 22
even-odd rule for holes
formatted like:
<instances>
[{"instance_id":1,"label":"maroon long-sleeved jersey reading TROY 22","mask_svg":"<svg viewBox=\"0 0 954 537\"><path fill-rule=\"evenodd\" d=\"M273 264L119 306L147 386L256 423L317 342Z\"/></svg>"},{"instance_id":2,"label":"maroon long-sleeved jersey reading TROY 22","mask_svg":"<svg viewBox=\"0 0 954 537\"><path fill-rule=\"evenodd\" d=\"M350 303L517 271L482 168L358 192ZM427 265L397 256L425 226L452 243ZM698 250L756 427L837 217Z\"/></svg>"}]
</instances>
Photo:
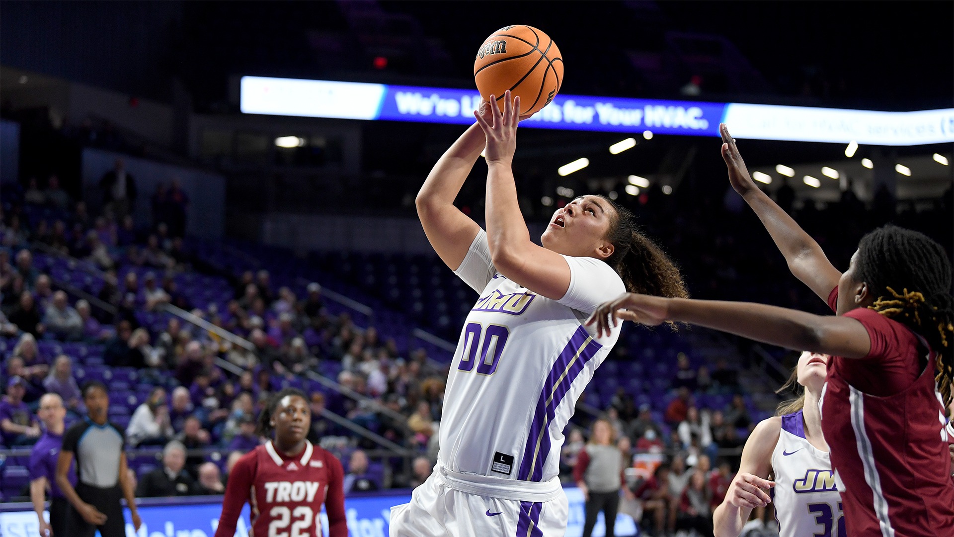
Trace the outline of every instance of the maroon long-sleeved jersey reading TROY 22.
<instances>
[{"instance_id":1,"label":"maroon long-sleeved jersey reading TROY 22","mask_svg":"<svg viewBox=\"0 0 954 537\"><path fill-rule=\"evenodd\" d=\"M330 537L347 537L342 463L305 440L301 455L286 457L269 440L246 453L229 474L216 537L234 537L239 513L252 507L249 537L321 537L321 504Z\"/></svg>"}]
</instances>

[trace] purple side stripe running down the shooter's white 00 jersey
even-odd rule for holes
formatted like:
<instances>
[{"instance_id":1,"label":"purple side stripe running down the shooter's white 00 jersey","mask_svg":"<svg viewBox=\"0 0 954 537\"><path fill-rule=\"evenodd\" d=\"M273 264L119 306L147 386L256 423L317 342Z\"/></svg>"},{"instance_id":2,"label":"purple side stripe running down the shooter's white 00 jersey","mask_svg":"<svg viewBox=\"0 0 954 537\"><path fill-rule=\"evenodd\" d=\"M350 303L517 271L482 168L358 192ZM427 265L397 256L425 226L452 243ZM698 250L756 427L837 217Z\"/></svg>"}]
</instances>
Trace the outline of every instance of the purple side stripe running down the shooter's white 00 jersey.
<instances>
[{"instance_id":1,"label":"purple side stripe running down the shooter's white 00 jersey","mask_svg":"<svg viewBox=\"0 0 954 537\"><path fill-rule=\"evenodd\" d=\"M593 355L602 349L602 345L590 340L586 348L580 352L580 346L588 339L590 339L590 334L586 332L586 329L583 327L577 329L570 338L567 347L553 363L550 375L544 382L543 391L537 400L536 412L530 424L528 443L524 450L524 458L520 462L520 472L517 474L517 479L529 481L543 479L544 462L550 455L550 435L546 434L546 428L556 416L556 408L563 401L567 392L570 391L573 381L583 371L586 363L590 361ZM577 356L577 353L579 353L579 356ZM574 357L576 357L576 360L572 361ZM571 361L572 363L570 363ZM550 399L549 404L548 399ZM539 442L539 449L537 449L537 442ZM534 455L536 456L534 457Z\"/></svg>"}]
</instances>

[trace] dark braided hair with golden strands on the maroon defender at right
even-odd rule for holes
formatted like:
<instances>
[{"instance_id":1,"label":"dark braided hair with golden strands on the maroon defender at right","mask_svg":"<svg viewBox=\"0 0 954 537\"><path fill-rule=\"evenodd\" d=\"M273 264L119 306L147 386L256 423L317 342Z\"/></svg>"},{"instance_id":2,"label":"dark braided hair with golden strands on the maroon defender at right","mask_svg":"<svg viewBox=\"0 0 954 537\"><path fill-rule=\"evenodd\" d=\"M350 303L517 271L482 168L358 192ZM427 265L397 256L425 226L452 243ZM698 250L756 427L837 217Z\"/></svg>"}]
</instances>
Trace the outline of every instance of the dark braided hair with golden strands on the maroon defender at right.
<instances>
[{"instance_id":1,"label":"dark braided hair with golden strands on the maroon defender at right","mask_svg":"<svg viewBox=\"0 0 954 537\"><path fill-rule=\"evenodd\" d=\"M856 280L877 297L871 310L921 335L937 354L935 380L951 402L954 381L954 299L944 247L923 233L882 226L861 238Z\"/></svg>"}]
</instances>

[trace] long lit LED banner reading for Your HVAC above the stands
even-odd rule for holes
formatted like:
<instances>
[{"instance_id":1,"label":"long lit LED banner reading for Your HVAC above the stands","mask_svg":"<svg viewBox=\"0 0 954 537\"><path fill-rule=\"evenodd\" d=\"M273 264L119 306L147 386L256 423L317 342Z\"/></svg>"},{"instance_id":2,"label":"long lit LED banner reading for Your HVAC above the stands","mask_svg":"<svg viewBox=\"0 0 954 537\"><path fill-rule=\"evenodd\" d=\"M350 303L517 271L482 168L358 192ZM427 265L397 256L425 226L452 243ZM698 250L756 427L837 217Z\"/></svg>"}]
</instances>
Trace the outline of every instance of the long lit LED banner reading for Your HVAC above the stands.
<instances>
[{"instance_id":1,"label":"long lit LED banner reading for Your HVAC above the stands","mask_svg":"<svg viewBox=\"0 0 954 537\"><path fill-rule=\"evenodd\" d=\"M470 124L476 90L242 76L245 114ZM766 104L558 95L522 127L756 140L918 145L954 141L954 109L876 112Z\"/></svg>"}]
</instances>

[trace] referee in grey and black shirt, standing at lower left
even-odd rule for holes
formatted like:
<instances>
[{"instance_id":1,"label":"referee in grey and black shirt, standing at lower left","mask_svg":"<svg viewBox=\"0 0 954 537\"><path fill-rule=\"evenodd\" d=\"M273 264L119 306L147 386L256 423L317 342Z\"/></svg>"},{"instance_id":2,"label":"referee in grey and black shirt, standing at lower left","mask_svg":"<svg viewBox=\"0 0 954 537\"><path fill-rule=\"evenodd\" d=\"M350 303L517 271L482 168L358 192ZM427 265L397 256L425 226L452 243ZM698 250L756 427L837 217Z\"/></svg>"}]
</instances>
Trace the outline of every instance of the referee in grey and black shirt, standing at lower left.
<instances>
[{"instance_id":1,"label":"referee in grey and black shirt, standing at lower left","mask_svg":"<svg viewBox=\"0 0 954 537\"><path fill-rule=\"evenodd\" d=\"M126 471L126 440L122 429L107 420L110 397L106 385L91 380L83 384L82 394L87 416L67 430L56 462L56 484L73 505L67 521L70 537L93 537L96 529L102 537L125 537L123 496L133 513L135 530L142 524ZM75 488L67 475L73 458L78 473Z\"/></svg>"}]
</instances>

